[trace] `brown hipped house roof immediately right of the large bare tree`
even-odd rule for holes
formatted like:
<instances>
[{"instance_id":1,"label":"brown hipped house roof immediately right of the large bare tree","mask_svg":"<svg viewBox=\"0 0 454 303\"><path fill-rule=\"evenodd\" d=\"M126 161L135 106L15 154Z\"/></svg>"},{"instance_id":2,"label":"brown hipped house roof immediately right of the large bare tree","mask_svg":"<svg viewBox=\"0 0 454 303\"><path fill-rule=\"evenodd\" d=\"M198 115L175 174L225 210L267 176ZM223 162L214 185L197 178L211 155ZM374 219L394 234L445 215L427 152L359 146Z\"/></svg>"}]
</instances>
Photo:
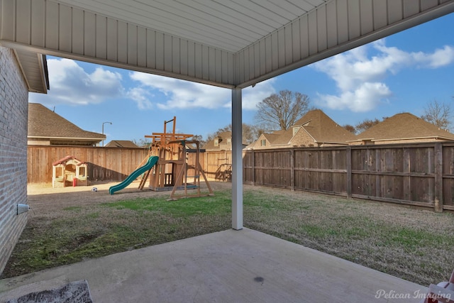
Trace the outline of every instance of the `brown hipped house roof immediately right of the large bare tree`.
<instances>
[{"instance_id":1,"label":"brown hipped house roof immediately right of the large bare tree","mask_svg":"<svg viewBox=\"0 0 454 303\"><path fill-rule=\"evenodd\" d=\"M309 111L294 126L302 126L316 143L345 144L356 138L353 133L338 125L320 109Z\"/></svg>"}]
</instances>

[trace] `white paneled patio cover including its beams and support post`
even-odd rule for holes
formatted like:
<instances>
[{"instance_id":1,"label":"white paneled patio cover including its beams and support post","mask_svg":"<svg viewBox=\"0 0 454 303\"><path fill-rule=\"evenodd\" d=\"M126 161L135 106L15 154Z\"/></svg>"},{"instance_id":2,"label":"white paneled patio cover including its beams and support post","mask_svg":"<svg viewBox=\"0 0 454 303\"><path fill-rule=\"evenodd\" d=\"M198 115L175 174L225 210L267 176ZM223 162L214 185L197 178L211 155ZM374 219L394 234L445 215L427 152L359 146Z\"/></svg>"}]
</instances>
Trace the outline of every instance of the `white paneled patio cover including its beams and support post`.
<instances>
[{"instance_id":1,"label":"white paneled patio cover including its beams and support post","mask_svg":"<svg viewBox=\"0 0 454 303\"><path fill-rule=\"evenodd\" d=\"M243 228L241 89L454 11L454 0L0 0L0 45L232 89L233 223ZM445 29L446 30L446 29ZM52 84L50 84L52 87Z\"/></svg>"}]
</instances>

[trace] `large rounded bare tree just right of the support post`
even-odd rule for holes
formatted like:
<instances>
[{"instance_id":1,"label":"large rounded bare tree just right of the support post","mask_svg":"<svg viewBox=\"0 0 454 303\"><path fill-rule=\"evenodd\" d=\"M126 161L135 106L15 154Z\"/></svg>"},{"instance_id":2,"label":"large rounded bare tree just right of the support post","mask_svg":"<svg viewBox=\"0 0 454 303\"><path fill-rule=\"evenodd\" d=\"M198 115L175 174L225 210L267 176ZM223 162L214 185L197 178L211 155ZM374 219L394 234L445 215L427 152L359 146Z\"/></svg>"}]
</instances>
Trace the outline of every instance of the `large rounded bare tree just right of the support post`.
<instances>
[{"instance_id":1,"label":"large rounded bare tree just right of the support post","mask_svg":"<svg viewBox=\"0 0 454 303\"><path fill-rule=\"evenodd\" d=\"M257 104L255 121L270 130L285 130L309 111L309 101L305 94L282 90Z\"/></svg>"}]
</instances>

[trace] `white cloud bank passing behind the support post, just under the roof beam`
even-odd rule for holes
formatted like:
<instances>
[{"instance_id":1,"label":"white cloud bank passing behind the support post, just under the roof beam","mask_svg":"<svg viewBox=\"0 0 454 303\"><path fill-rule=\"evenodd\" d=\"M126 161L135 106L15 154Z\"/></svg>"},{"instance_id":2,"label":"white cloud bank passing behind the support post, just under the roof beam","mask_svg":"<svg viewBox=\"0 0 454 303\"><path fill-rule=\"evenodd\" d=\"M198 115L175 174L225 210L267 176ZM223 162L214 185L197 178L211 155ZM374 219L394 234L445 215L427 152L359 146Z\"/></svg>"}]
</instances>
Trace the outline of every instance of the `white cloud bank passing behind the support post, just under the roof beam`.
<instances>
[{"instance_id":1,"label":"white cloud bank passing behind the support post, just under the roof beam","mask_svg":"<svg viewBox=\"0 0 454 303\"><path fill-rule=\"evenodd\" d=\"M140 82L139 88L135 88L133 93L128 93L128 96L138 103L139 108L145 103L155 103L160 109L216 109L231 106L231 89L150 75L143 72L132 72L130 77ZM258 102L274 92L272 82L273 80L268 80L258 83L255 87L244 89L243 109L255 110ZM157 89L161 94L165 95L167 100L153 102L153 96L147 93L150 89ZM140 92L143 94L140 94ZM145 109L145 107L142 108Z\"/></svg>"}]
</instances>

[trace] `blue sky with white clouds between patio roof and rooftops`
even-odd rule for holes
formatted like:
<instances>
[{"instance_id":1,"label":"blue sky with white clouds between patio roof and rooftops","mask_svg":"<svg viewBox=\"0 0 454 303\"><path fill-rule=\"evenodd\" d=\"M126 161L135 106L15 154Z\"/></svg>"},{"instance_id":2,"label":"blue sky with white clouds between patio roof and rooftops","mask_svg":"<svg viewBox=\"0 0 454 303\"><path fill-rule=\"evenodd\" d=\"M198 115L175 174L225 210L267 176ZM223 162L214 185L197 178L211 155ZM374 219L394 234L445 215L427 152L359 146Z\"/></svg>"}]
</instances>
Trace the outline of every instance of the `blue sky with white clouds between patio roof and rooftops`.
<instances>
[{"instance_id":1,"label":"blue sky with white clouds between patio roof and rooftops","mask_svg":"<svg viewBox=\"0 0 454 303\"><path fill-rule=\"evenodd\" d=\"M306 94L340 125L402 112L421 116L433 100L454 108L454 13L243 89L243 122L282 89ZM86 131L140 140L177 117L177 131L206 138L231 123L231 90L48 56L50 91L30 93Z\"/></svg>"}]
</instances>

